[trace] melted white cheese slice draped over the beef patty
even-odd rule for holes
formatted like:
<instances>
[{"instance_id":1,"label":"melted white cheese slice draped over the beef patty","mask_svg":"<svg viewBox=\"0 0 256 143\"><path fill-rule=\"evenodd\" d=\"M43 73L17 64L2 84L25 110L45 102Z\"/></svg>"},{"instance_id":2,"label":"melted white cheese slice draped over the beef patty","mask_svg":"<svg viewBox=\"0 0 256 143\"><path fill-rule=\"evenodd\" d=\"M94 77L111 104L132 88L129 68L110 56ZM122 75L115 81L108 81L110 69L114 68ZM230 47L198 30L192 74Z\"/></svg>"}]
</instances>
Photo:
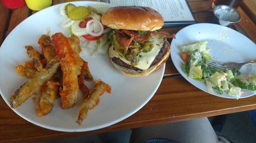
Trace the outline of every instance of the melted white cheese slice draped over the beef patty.
<instances>
[{"instance_id":1,"label":"melted white cheese slice draped over the beef patty","mask_svg":"<svg viewBox=\"0 0 256 143\"><path fill-rule=\"evenodd\" d=\"M160 49L163 47L163 39L164 39L164 36L161 34L156 34L152 36L151 44L154 45L154 48L152 48L152 50L148 53L143 53L143 52L140 53L140 55L142 56L140 58L140 62L134 67L137 67L141 70L148 69L151 63L154 61L155 57L158 55ZM113 50L113 46L109 48L109 56L111 58L116 57L116 58L122 59L122 61L124 61L126 64L131 65L130 61L128 61L124 57L121 57L118 53L116 53L115 50Z\"/></svg>"}]
</instances>

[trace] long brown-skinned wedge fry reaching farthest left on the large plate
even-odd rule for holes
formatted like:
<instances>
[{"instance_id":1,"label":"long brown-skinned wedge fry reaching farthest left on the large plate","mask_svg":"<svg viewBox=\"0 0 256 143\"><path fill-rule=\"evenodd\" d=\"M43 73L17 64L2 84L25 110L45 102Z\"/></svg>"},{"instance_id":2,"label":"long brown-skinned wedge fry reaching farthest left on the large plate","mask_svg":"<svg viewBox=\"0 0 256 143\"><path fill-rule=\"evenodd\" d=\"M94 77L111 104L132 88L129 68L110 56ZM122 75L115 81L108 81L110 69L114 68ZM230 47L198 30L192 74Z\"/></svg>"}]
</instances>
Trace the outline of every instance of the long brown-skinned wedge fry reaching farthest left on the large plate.
<instances>
[{"instance_id":1,"label":"long brown-skinned wedge fry reaching farthest left on the large plate","mask_svg":"<svg viewBox=\"0 0 256 143\"><path fill-rule=\"evenodd\" d=\"M19 89L17 89L11 97L10 105L12 108L17 108L23 102L25 102L33 94L37 93L38 90L52 77L59 67L58 58L53 58L47 68L41 69L34 78L29 79Z\"/></svg>"}]
</instances>

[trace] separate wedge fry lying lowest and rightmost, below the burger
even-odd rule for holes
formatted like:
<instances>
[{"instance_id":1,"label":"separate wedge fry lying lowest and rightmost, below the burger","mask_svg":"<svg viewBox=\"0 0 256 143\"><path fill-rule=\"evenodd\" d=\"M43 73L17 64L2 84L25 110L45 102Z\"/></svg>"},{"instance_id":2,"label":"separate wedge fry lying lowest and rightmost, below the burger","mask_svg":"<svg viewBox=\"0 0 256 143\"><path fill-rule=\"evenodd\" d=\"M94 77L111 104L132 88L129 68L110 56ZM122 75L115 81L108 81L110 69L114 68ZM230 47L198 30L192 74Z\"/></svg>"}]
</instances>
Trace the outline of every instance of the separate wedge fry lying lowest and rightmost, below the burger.
<instances>
[{"instance_id":1,"label":"separate wedge fry lying lowest and rightmost, below the burger","mask_svg":"<svg viewBox=\"0 0 256 143\"><path fill-rule=\"evenodd\" d=\"M90 93L88 98L84 99L84 103L80 108L79 116L76 120L76 123L78 123L79 126L81 126L82 121L86 118L88 110L93 109L99 104L99 96L105 93L105 91L111 93L111 86L99 79L96 80L94 90Z\"/></svg>"}]
</instances>

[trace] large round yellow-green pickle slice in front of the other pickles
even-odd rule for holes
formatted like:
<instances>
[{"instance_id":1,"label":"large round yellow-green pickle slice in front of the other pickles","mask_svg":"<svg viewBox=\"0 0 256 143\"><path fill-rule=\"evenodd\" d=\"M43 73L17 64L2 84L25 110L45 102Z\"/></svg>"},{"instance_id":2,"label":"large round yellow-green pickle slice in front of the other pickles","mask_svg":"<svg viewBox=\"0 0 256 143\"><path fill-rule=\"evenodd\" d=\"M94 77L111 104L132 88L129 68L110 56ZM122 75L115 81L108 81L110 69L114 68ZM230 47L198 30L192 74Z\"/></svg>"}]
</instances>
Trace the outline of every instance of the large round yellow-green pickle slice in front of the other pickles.
<instances>
[{"instance_id":1,"label":"large round yellow-green pickle slice in front of the other pickles","mask_svg":"<svg viewBox=\"0 0 256 143\"><path fill-rule=\"evenodd\" d=\"M71 20L82 20L85 17L87 17L88 15L90 15L90 11L88 10L87 7L85 6L78 6L74 9L72 9L69 13L68 13L68 17Z\"/></svg>"}]
</instances>

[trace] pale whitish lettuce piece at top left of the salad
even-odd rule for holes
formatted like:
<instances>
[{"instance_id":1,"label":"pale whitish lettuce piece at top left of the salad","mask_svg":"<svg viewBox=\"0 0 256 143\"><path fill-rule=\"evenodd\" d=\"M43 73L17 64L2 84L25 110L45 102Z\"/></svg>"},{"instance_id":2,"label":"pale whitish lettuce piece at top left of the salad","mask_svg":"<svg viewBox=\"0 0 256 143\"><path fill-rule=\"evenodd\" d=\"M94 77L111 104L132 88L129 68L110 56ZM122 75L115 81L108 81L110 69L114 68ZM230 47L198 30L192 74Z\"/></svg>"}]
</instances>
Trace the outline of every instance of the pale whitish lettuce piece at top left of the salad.
<instances>
[{"instance_id":1,"label":"pale whitish lettuce piece at top left of the salad","mask_svg":"<svg viewBox=\"0 0 256 143\"><path fill-rule=\"evenodd\" d=\"M197 42L195 44L191 44L191 45L187 45L187 46L181 46L181 50L182 52L192 52L195 49L198 49L199 52L204 52L206 50L206 45L207 45L208 41L204 41L204 42Z\"/></svg>"}]
</instances>

